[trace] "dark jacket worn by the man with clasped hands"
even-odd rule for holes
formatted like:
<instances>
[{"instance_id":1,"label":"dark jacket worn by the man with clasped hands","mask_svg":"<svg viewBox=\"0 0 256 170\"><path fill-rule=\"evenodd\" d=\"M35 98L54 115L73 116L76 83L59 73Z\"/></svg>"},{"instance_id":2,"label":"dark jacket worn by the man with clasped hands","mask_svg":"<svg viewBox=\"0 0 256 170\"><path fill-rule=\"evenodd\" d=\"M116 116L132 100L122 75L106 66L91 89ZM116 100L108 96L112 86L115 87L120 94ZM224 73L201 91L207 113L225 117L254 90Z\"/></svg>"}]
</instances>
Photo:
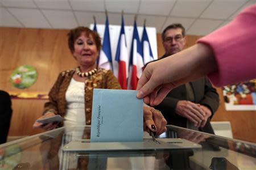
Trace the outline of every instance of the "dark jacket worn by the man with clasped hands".
<instances>
[{"instance_id":1,"label":"dark jacket worn by the man with clasped hands","mask_svg":"<svg viewBox=\"0 0 256 170\"><path fill-rule=\"evenodd\" d=\"M200 78L195 82L191 82L191 85L195 94L194 103L208 107L210 111L212 111L213 116L214 112L218 109L220 99L216 89L212 87L209 79ZM187 90L185 85L181 85L171 90L162 103L154 108L163 113L164 118L167 120L167 124L186 128L187 118L181 117L175 112L175 108L179 100L187 100ZM212 116L210 118L212 118ZM214 134L212 126L210 126L210 118L204 128L199 128L199 130Z\"/></svg>"}]
</instances>

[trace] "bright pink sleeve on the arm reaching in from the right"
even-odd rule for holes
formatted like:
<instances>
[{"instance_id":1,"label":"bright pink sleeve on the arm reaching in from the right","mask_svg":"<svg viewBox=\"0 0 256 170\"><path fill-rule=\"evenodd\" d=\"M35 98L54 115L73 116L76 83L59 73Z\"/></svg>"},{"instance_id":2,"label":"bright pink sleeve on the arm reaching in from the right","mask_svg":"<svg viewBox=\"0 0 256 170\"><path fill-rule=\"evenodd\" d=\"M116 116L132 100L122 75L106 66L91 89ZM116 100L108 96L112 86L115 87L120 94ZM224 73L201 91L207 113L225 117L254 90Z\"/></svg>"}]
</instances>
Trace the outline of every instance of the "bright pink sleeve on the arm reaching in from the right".
<instances>
[{"instance_id":1,"label":"bright pink sleeve on the arm reaching in from the right","mask_svg":"<svg viewBox=\"0 0 256 170\"><path fill-rule=\"evenodd\" d=\"M218 73L209 74L216 86L256 78L256 5L243 10L232 22L197 41L212 48Z\"/></svg>"}]
</instances>

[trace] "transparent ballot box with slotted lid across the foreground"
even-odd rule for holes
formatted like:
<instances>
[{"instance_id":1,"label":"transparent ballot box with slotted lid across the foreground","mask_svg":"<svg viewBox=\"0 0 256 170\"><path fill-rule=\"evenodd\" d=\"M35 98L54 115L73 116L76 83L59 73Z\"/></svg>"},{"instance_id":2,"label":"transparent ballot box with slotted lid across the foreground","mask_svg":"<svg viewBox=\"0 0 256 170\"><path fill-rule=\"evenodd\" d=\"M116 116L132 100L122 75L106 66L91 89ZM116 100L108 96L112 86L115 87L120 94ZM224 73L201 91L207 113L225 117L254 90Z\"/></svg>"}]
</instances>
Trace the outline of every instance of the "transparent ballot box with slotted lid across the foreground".
<instances>
[{"instance_id":1,"label":"transparent ballot box with slotted lid across the foreground","mask_svg":"<svg viewBox=\"0 0 256 170\"><path fill-rule=\"evenodd\" d=\"M129 134L128 134L129 135ZM0 145L0 169L256 169L255 143L167 126L152 141L90 142L90 126Z\"/></svg>"}]
</instances>

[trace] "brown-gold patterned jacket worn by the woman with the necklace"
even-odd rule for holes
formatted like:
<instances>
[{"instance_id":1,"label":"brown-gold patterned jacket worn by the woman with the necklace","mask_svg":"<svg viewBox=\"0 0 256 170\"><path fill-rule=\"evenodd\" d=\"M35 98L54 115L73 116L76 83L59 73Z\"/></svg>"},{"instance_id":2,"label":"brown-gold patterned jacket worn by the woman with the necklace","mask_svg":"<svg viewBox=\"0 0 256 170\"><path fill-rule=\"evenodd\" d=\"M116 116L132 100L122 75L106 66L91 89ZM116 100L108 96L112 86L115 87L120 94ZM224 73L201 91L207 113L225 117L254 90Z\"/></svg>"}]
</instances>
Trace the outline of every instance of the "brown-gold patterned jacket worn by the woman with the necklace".
<instances>
[{"instance_id":1,"label":"brown-gold patterned jacket worn by the woman with the necklace","mask_svg":"<svg viewBox=\"0 0 256 170\"><path fill-rule=\"evenodd\" d=\"M66 70L59 74L57 81L49 92L49 101L44 104L44 113L53 112L64 117L66 111L65 94L71 82L75 69ZM86 125L92 119L93 88L121 89L117 78L110 70L97 69L97 72L85 79L85 117Z\"/></svg>"}]
</instances>

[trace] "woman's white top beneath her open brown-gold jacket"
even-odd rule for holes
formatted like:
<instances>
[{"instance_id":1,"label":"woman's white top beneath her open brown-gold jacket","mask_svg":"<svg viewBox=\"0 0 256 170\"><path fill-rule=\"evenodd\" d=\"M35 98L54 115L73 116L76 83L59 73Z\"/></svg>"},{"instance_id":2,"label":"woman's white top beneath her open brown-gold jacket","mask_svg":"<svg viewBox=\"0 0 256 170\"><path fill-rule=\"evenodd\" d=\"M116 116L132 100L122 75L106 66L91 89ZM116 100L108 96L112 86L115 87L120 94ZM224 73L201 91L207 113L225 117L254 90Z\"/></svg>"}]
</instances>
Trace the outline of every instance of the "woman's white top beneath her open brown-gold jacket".
<instances>
[{"instance_id":1,"label":"woman's white top beneath her open brown-gold jacket","mask_svg":"<svg viewBox=\"0 0 256 170\"><path fill-rule=\"evenodd\" d=\"M71 79L66 92L66 113L64 126L85 125L84 82Z\"/></svg>"}]
</instances>

